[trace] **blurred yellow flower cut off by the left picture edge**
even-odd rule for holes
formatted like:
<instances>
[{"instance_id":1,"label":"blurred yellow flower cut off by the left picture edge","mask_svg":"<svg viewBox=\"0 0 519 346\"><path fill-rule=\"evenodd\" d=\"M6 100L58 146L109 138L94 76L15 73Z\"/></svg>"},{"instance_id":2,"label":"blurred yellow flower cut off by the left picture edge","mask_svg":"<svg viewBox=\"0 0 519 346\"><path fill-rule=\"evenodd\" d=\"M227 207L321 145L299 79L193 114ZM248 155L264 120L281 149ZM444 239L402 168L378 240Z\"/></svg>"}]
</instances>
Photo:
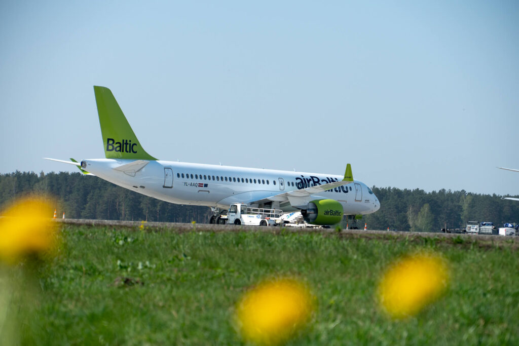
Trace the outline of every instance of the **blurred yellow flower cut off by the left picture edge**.
<instances>
[{"instance_id":1,"label":"blurred yellow flower cut off by the left picture edge","mask_svg":"<svg viewBox=\"0 0 519 346\"><path fill-rule=\"evenodd\" d=\"M53 207L44 199L23 198L0 218L0 259L15 264L24 255L39 254L56 245Z\"/></svg>"}]
</instances>

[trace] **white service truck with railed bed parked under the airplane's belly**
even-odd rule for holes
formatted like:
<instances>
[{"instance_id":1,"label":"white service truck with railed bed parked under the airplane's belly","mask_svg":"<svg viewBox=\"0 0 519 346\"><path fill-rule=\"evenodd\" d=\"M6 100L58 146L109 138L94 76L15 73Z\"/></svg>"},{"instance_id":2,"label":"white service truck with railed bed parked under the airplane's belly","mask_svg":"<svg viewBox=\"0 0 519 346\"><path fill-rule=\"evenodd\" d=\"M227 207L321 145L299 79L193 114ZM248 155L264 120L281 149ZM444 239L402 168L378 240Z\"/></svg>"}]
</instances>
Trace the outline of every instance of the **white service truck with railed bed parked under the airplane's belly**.
<instances>
[{"instance_id":1,"label":"white service truck with railed bed parked under the airplane's belly","mask_svg":"<svg viewBox=\"0 0 519 346\"><path fill-rule=\"evenodd\" d=\"M242 203L233 203L227 211L227 223L250 226L282 225L283 212L277 209L252 208Z\"/></svg>"}]
</instances>

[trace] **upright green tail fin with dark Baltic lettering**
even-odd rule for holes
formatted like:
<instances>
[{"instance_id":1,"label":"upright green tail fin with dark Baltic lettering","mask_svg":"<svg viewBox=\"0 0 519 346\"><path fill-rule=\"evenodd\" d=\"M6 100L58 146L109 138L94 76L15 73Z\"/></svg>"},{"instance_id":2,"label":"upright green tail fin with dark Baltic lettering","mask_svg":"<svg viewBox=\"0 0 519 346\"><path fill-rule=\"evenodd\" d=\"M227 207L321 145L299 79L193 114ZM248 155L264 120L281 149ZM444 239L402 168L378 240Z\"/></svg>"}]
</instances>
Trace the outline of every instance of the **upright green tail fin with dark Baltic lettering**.
<instances>
[{"instance_id":1,"label":"upright green tail fin with dark Baltic lettering","mask_svg":"<svg viewBox=\"0 0 519 346\"><path fill-rule=\"evenodd\" d=\"M110 89L94 86L99 123L107 159L157 160L146 153Z\"/></svg>"}]
</instances>

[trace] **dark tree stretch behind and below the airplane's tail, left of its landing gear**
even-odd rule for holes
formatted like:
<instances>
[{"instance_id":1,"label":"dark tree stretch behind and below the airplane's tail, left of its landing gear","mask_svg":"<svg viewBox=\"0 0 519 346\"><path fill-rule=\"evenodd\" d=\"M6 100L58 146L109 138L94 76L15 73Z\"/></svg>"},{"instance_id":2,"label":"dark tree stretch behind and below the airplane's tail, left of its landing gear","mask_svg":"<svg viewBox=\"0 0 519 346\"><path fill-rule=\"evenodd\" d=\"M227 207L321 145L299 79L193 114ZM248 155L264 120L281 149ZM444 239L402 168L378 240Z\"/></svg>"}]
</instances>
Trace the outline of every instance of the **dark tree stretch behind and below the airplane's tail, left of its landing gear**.
<instances>
[{"instance_id":1,"label":"dark tree stretch behind and below the airplane's tail, left of its landing gear","mask_svg":"<svg viewBox=\"0 0 519 346\"><path fill-rule=\"evenodd\" d=\"M0 175L0 205L28 194L56 198L58 217L149 222L207 223L209 207L179 205L82 173L19 172Z\"/></svg>"}]
</instances>

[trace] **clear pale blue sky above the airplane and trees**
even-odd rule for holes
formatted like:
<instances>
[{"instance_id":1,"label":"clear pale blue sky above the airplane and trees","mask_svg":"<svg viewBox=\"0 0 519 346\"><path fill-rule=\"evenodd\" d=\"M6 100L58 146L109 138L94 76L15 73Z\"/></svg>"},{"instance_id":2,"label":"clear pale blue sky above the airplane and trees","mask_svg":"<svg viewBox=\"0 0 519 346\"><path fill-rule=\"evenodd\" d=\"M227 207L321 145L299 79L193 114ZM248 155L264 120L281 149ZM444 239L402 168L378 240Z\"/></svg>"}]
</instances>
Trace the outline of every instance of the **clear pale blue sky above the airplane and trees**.
<instances>
[{"instance_id":1,"label":"clear pale blue sky above the airplane and trees","mask_svg":"<svg viewBox=\"0 0 519 346\"><path fill-rule=\"evenodd\" d=\"M518 18L516 1L2 2L0 173L103 157L100 85L160 159L518 195L495 168L519 168Z\"/></svg>"}]
</instances>

